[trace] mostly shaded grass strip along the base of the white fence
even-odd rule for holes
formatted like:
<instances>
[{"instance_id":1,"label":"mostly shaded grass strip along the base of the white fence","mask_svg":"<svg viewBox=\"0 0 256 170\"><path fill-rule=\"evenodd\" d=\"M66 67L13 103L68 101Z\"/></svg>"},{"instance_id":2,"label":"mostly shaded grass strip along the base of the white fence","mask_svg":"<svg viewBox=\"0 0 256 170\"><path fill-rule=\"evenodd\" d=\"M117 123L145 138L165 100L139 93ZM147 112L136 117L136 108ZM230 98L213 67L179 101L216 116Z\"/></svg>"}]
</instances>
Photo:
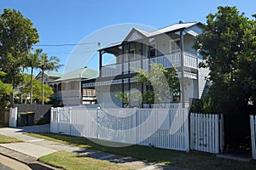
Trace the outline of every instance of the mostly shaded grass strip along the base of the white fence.
<instances>
[{"instance_id":1,"label":"mostly shaded grass strip along the base of the white fence","mask_svg":"<svg viewBox=\"0 0 256 170\"><path fill-rule=\"evenodd\" d=\"M164 150L150 148L147 146L131 145L127 147L108 147L96 144L82 137L68 136L56 133L29 133L28 135L47 139L62 144L71 144L80 148L100 150L120 156L131 156L140 160L161 162L177 167L187 167L189 169L256 169L256 163L239 162L217 158L215 155L190 151L189 153L177 150Z\"/></svg>"}]
</instances>

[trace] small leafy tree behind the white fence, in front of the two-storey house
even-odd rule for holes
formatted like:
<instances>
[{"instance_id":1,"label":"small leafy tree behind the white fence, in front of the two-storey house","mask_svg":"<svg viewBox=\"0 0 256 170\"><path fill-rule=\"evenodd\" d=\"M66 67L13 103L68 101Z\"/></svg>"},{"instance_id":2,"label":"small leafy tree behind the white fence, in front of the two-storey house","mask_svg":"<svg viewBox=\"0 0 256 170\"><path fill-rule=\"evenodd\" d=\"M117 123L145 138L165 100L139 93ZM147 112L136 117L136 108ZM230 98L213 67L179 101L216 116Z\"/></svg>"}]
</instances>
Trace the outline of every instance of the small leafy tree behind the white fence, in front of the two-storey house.
<instances>
[{"instance_id":1,"label":"small leafy tree behind the white fence, in front of the two-storey house","mask_svg":"<svg viewBox=\"0 0 256 170\"><path fill-rule=\"evenodd\" d=\"M131 98L141 99L143 102L151 104L157 103L169 103L173 93L179 93L179 80L177 78L177 70L175 67L165 69L163 65L159 63L150 65L151 71L145 71L143 69L131 68L131 70L137 72L135 77L137 82L149 84L153 89L148 89L143 94L129 94L119 93L115 97L121 101L129 102Z\"/></svg>"}]
</instances>

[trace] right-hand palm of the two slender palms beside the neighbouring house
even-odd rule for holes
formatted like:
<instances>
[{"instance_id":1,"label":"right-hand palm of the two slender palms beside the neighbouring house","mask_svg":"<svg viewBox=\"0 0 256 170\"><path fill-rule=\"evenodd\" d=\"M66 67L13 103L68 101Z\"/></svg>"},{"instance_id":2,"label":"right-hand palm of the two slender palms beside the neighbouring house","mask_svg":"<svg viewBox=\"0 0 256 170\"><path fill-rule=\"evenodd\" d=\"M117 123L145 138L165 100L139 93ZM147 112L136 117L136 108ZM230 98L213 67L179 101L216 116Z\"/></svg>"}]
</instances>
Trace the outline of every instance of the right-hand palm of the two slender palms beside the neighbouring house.
<instances>
[{"instance_id":1,"label":"right-hand palm of the two slender palms beside the neighbouring house","mask_svg":"<svg viewBox=\"0 0 256 170\"><path fill-rule=\"evenodd\" d=\"M42 105L44 105L44 71L58 71L59 70L59 62L56 56L48 56L47 54L43 53L40 57L40 64L38 68L42 71Z\"/></svg>"}]
</instances>

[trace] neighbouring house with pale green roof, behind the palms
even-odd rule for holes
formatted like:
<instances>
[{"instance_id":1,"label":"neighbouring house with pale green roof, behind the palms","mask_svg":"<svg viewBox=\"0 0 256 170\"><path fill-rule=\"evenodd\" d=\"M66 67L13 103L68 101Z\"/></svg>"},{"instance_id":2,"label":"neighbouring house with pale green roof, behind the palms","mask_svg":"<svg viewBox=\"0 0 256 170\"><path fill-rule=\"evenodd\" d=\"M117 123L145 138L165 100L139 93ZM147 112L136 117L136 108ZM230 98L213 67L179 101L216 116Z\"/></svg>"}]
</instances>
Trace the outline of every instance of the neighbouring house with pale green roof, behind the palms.
<instances>
[{"instance_id":1,"label":"neighbouring house with pale green roof, behind the palms","mask_svg":"<svg viewBox=\"0 0 256 170\"><path fill-rule=\"evenodd\" d=\"M97 71L87 67L65 74L48 71L44 73L44 83L53 88L52 97L61 101L62 105L90 105L96 103L95 88L82 88L81 82L97 76ZM36 79L42 81L42 72Z\"/></svg>"}]
</instances>

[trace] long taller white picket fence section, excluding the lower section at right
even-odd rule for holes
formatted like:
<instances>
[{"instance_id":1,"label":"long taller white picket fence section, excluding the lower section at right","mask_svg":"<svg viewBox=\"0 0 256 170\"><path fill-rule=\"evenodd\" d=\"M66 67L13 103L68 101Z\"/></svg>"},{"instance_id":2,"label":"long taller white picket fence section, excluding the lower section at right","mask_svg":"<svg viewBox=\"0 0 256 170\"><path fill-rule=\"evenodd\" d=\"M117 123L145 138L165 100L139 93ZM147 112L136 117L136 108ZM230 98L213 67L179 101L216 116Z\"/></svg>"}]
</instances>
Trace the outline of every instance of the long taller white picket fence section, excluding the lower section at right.
<instances>
[{"instance_id":1,"label":"long taller white picket fence section, excluding the lower section at right","mask_svg":"<svg viewBox=\"0 0 256 170\"><path fill-rule=\"evenodd\" d=\"M188 109L52 108L50 131L189 151Z\"/></svg>"}]
</instances>

